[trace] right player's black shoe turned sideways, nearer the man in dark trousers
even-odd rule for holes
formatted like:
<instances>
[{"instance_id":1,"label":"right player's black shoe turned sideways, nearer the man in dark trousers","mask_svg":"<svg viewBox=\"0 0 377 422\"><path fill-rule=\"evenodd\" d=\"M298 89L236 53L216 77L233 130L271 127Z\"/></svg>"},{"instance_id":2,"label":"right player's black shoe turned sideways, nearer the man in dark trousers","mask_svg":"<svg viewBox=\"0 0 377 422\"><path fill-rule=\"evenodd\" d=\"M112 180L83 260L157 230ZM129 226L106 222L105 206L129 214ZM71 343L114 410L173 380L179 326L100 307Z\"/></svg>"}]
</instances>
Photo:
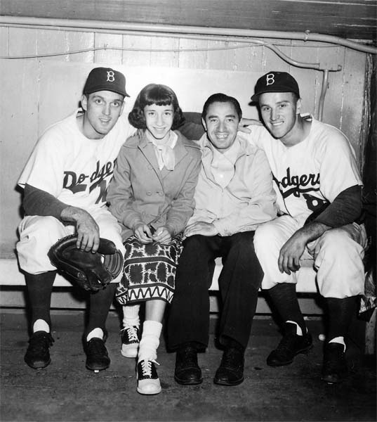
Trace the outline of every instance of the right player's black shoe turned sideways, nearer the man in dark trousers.
<instances>
[{"instance_id":1,"label":"right player's black shoe turned sideways, nearer the man in dark trousers","mask_svg":"<svg viewBox=\"0 0 377 422\"><path fill-rule=\"evenodd\" d=\"M313 347L312 335L296 334L296 324L286 322L284 324L284 336L279 345L267 357L267 365L283 366L293 362L296 354L307 353Z\"/></svg>"}]
</instances>

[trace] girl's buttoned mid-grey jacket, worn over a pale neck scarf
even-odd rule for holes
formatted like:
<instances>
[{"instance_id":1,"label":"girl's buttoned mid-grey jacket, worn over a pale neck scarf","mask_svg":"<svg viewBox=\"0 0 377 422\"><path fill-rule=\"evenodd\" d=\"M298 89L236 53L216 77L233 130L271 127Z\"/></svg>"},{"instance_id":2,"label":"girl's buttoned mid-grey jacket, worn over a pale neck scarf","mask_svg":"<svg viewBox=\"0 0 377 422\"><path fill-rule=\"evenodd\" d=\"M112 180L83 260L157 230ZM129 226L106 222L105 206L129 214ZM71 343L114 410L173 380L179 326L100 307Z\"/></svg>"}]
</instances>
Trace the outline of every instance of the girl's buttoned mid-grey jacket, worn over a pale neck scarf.
<instances>
[{"instance_id":1,"label":"girl's buttoned mid-grey jacket, worn over a pale neck scarf","mask_svg":"<svg viewBox=\"0 0 377 422\"><path fill-rule=\"evenodd\" d=\"M123 225L124 240L140 222L152 222L155 229L166 226L175 236L185 229L194 211L201 151L180 132L176 134L174 170L159 170L154 146L143 131L128 138L119 151L107 202Z\"/></svg>"}]
</instances>

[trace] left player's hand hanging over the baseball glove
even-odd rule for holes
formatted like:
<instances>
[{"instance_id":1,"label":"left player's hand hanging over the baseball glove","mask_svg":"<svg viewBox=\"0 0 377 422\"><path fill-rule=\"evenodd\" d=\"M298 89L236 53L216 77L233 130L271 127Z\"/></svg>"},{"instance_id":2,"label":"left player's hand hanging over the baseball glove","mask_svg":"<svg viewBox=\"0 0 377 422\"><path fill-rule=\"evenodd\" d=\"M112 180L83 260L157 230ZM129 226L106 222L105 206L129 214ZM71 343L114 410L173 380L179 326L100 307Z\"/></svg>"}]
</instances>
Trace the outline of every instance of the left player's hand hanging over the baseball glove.
<instances>
[{"instance_id":1,"label":"left player's hand hanging over the baseball glove","mask_svg":"<svg viewBox=\"0 0 377 422\"><path fill-rule=\"evenodd\" d=\"M77 248L97 252L100 245L100 229L93 217L78 207L66 207L60 215L62 221L74 222L77 231Z\"/></svg>"}]
</instances>

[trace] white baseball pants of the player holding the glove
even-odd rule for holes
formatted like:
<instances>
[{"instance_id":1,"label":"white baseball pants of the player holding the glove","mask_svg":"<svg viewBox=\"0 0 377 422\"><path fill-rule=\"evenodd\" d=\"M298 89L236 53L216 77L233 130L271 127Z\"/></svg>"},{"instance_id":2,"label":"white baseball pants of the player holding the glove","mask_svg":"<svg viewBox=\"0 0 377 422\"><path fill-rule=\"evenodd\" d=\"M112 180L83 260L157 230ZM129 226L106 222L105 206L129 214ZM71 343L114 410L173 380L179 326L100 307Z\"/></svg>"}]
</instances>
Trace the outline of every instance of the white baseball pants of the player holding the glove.
<instances>
[{"instance_id":1,"label":"white baseball pants of the player holding the glove","mask_svg":"<svg viewBox=\"0 0 377 422\"><path fill-rule=\"evenodd\" d=\"M100 237L113 241L124 256L125 248L121 241L121 226L106 208L98 208L91 216L100 228ZM20 241L16 248L20 268L29 274L40 274L56 269L48 259L47 252L60 238L74 234L75 226L62 224L55 217L27 216L18 226ZM112 283L119 283L122 271Z\"/></svg>"}]
</instances>

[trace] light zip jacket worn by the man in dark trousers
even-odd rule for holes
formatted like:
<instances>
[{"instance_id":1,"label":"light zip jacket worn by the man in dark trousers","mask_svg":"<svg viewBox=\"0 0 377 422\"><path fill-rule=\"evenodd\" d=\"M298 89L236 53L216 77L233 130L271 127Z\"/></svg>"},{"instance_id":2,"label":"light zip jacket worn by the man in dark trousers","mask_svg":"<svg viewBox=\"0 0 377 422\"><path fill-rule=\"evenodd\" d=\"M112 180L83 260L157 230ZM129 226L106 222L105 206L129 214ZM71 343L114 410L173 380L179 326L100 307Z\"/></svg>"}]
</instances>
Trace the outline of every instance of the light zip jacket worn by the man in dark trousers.
<instances>
[{"instance_id":1,"label":"light zip jacket worn by the man in dark trousers","mask_svg":"<svg viewBox=\"0 0 377 422\"><path fill-rule=\"evenodd\" d=\"M256 230L259 224L277 216L272 173L265 153L237 136L239 151L227 186L213 177L213 146L204 134L198 141L202 149L201 172L195 191L195 211L188 224L213 223L220 236Z\"/></svg>"}]
</instances>

